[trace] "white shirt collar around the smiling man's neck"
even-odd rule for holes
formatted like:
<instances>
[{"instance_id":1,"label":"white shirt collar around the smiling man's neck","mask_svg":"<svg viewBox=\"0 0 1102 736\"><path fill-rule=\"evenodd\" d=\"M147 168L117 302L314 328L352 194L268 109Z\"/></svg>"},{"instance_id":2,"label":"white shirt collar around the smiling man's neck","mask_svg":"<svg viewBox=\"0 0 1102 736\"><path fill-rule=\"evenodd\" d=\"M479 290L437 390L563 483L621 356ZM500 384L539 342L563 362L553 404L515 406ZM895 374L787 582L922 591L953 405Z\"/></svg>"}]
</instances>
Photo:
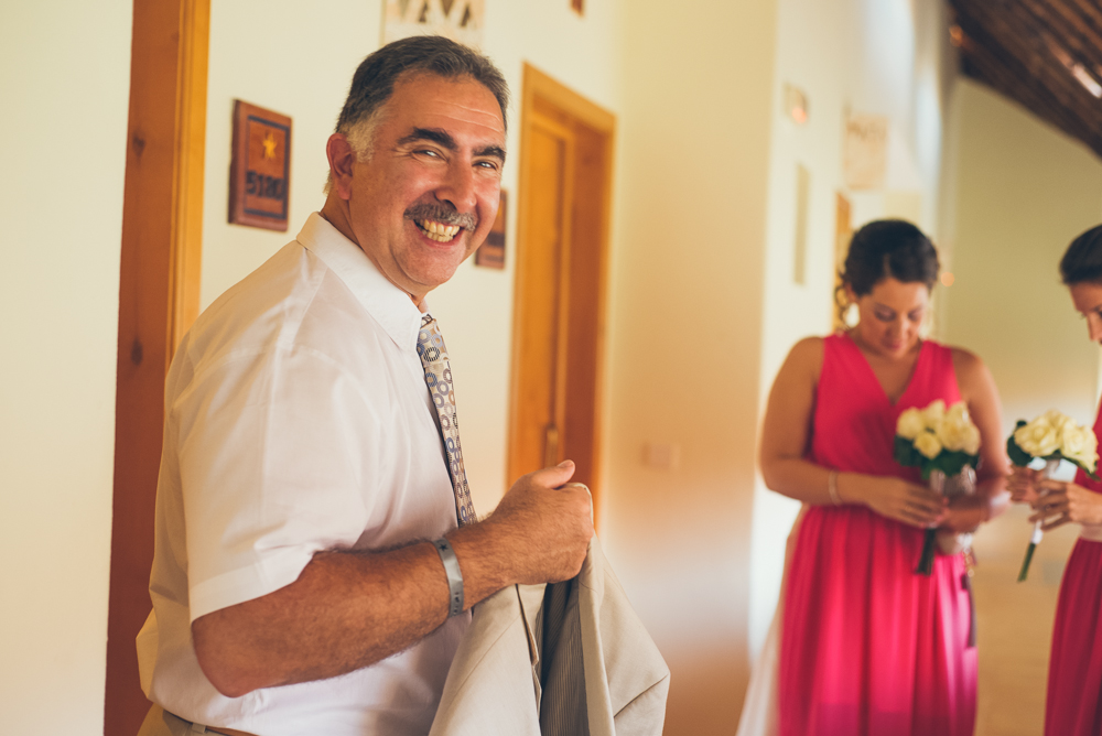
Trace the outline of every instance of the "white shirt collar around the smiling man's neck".
<instances>
[{"instance_id":1,"label":"white shirt collar around the smiling man's neck","mask_svg":"<svg viewBox=\"0 0 1102 736\"><path fill-rule=\"evenodd\" d=\"M417 350L421 311L409 294L379 272L359 246L320 213L306 219L295 239L337 274L398 347Z\"/></svg>"}]
</instances>

